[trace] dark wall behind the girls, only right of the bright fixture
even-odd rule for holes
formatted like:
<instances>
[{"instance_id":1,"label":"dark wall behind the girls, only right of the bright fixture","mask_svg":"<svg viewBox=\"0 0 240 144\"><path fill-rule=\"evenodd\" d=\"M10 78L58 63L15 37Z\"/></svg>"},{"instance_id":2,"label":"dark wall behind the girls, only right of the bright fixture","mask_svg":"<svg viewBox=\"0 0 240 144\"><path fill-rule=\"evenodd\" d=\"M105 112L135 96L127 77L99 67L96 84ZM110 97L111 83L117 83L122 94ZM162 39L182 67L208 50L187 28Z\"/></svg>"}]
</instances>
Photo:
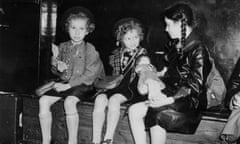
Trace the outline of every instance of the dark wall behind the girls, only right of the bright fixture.
<instances>
[{"instance_id":1,"label":"dark wall behind the girls, only right of the bright fixture","mask_svg":"<svg viewBox=\"0 0 240 144\"><path fill-rule=\"evenodd\" d=\"M84 6L90 9L96 20L96 31L88 37L100 51L107 65L107 55L115 48L112 35L114 23L123 17L136 17L145 25L144 46L149 51L162 49L166 42L164 24L160 14L167 6L180 0L60 0L58 22L61 14L71 6ZM196 11L198 22L202 24L209 51L225 81L239 57L240 45L240 1L238 0L182 0L190 3ZM58 27L56 43L64 41ZM107 67L108 70L108 67Z\"/></svg>"}]
</instances>

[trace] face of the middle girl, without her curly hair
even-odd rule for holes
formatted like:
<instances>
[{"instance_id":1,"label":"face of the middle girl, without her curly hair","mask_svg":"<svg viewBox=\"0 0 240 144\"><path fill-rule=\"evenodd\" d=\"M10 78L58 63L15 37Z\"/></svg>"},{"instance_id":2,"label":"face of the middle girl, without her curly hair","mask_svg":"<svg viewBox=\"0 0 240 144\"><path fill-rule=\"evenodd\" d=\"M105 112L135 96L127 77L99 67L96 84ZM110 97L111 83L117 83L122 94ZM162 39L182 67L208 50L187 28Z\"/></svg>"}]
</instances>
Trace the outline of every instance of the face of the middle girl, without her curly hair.
<instances>
[{"instance_id":1,"label":"face of the middle girl, without her curly hair","mask_svg":"<svg viewBox=\"0 0 240 144\"><path fill-rule=\"evenodd\" d=\"M137 48L140 43L140 36L138 34L138 31L136 29L132 29L132 30L128 31L123 36L123 43L126 48L129 48L129 49Z\"/></svg>"}]
</instances>

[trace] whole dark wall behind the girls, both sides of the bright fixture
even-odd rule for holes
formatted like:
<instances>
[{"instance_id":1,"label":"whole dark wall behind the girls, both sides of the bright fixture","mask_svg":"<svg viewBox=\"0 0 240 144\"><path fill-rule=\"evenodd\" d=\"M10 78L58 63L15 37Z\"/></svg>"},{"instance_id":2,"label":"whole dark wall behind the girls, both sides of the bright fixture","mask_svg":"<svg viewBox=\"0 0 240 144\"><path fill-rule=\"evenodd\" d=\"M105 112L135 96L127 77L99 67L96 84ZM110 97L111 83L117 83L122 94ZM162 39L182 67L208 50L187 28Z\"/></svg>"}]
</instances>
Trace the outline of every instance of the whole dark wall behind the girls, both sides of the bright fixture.
<instances>
[{"instance_id":1,"label":"whole dark wall behind the girls, both sides of the bright fixture","mask_svg":"<svg viewBox=\"0 0 240 144\"><path fill-rule=\"evenodd\" d=\"M2 0L3 1L3 0ZM167 6L180 0L44 0L56 2L57 32L54 43L68 40L61 29L61 15L72 6L83 6L93 12L96 30L87 37L96 46L106 66L108 55L115 48L114 23L124 17L138 18L145 26L142 43L150 52L161 50L167 41L160 13ZM238 0L184 0L197 12L197 19L206 33L209 51L227 82L240 53L240 1ZM39 1L3 1L8 30L0 30L0 90L28 91L38 81L48 78L50 47L39 41ZM11 31L11 32L9 32ZM40 47L39 47L40 44ZM39 50L45 61L39 65ZM48 59L48 60L46 60ZM159 59L154 59L158 63ZM38 69L40 67L40 69Z\"/></svg>"}]
</instances>

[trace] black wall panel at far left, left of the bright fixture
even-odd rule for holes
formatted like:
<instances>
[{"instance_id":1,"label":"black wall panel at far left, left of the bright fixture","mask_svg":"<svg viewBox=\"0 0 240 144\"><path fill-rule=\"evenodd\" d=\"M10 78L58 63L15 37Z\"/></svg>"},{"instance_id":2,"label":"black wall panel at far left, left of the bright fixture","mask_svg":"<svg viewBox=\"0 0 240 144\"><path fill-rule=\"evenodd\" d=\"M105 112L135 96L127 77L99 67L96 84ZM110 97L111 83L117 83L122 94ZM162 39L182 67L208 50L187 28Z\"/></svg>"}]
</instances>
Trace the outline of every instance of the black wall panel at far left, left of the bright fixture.
<instances>
[{"instance_id":1,"label":"black wall panel at far left, left of the bright fixture","mask_svg":"<svg viewBox=\"0 0 240 144\"><path fill-rule=\"evenodd\" d=\"M39 4L0 3L0 91L29 92L38 81Z\"/></svg>"}]
</instances>

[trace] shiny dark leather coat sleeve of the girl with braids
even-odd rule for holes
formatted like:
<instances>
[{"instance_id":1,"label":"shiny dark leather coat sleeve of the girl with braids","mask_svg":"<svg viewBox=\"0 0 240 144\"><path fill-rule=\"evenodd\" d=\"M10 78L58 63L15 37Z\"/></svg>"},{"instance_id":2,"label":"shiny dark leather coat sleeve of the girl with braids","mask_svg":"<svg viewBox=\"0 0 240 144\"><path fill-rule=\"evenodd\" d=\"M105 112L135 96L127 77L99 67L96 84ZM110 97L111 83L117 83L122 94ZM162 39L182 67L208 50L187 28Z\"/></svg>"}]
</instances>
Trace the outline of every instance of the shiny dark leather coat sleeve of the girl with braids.
<instances>
[{"instance_id":1,"label":"shiny dark leather coat sleeve of the girl with braids","mask_svg":"<svg viewBox=\"0 0 240 144\"><path fill-rule=\"evenodd\" d=\"M174 95L175 99L188 95L199 96L203 92L209 73L206 66L208 60L208 53L202 45L189 52L187 60L179 69L181 81L179 82L180 88Z\"/></svg>"}]
</instances>

